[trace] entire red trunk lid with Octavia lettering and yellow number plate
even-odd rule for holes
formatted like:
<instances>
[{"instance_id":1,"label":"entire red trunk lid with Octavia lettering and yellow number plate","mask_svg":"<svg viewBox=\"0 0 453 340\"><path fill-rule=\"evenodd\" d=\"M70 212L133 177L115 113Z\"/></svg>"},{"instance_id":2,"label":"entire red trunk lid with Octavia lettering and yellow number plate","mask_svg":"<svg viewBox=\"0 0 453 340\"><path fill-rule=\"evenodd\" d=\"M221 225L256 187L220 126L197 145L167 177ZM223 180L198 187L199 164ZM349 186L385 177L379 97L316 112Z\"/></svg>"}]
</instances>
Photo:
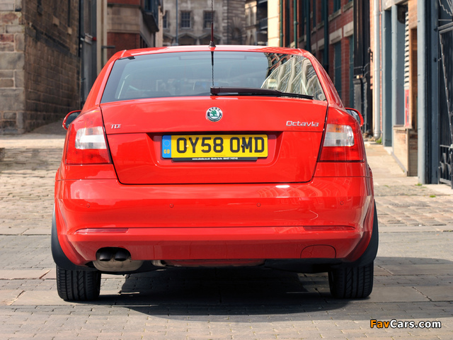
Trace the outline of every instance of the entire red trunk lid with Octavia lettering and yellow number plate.
<instances>
[{"instance_id":1,"label":"entire red trunk lid with Octavia lettering and yellow number plate","mask_svg":"<svg viewBox=\"0 0 453 340\"><path fill-rule=\"evenodd\" d=\"M218 109L222 118L209 120L210 108L211 118ZM103 103L101 110L121 183L289 183L314 174L327 103L197 96ZM176 158L184 152L190 157Z\"/></svg>"}]
</instances>

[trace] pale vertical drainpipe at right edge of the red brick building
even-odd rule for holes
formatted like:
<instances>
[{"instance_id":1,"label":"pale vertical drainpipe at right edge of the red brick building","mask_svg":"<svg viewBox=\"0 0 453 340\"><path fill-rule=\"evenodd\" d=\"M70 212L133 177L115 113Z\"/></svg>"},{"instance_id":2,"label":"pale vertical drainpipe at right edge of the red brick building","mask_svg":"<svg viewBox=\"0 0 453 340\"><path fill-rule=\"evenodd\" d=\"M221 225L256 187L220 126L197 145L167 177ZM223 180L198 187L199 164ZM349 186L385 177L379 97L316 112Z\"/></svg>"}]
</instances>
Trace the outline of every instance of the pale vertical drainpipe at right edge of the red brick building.
<instances>
[{"instance_id":1,"label":"pale vertical drainpipe at right edge of the red brick building","mask_svg":"<svg viewBox=\"0 0 453 340\"><path fill-rule=\"evenodd\" d=\"M381 137L381 50L379 45L380 27L379 1L374 0L374 76L373 76L373 111L374 111L374 139Z\"/></svg>"}]
</instances>

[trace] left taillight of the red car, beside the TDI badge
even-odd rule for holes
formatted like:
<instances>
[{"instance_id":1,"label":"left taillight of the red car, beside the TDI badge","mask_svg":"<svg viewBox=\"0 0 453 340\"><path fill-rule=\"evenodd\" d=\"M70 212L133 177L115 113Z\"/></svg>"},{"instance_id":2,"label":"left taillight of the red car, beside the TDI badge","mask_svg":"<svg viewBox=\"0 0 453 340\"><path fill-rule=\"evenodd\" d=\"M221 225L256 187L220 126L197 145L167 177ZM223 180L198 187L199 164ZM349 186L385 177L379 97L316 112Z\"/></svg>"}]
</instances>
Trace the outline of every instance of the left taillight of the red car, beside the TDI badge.
<instances>
[{"instance_id":1,"label":"left taillight of the red car, beside the TDI badge","mask_svg":"<svg viewBox=\"0 0 453 340\"><path fill-rule=\"evenodd\" d=\"M80 115L68 133L66 164L110 164L101 111Z\"/></svg>"}]
</instances>

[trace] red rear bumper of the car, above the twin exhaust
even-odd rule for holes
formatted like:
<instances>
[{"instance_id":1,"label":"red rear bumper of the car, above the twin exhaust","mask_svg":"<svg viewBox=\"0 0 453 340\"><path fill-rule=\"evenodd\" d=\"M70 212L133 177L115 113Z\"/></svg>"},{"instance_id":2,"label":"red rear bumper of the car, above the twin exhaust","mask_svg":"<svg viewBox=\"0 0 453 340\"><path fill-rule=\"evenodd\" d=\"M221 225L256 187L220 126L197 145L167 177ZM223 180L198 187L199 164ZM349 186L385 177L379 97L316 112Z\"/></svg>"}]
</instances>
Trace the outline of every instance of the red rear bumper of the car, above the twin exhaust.
<instances>
[{"instance_id":1,"label":"red rear bumper of the car, above the twin exhaust","mask_svg":"<svg viewBox=\"0 0 453 340\"><path fill-rule=\"evenodd\" d=\"M58 241L77 266L98 249L132 260L320 259L355 261L371 237L369 177L309 183L125 186L57 181Z\"/></svg>"}]
</instances>

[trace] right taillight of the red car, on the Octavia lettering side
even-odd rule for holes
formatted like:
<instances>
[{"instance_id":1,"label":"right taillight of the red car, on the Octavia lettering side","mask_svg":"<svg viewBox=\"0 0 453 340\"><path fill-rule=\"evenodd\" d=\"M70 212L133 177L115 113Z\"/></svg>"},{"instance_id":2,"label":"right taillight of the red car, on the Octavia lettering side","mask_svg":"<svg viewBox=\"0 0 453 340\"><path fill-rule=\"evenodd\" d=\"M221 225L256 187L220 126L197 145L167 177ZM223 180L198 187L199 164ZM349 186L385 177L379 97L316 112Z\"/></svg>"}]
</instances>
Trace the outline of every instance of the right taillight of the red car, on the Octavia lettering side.
<instances>
[{"instance_id":1,"label":"right taillight of the red car, on the Octavia lettering side","mask_svg":"<svg viewBox=\"0 0 453 340\"><path fill-rule=\"evenodd\" d=\"M360 124L348 113L331 108L319 162L363 162L365 146Z\"/></svg>"}]
</instances>

